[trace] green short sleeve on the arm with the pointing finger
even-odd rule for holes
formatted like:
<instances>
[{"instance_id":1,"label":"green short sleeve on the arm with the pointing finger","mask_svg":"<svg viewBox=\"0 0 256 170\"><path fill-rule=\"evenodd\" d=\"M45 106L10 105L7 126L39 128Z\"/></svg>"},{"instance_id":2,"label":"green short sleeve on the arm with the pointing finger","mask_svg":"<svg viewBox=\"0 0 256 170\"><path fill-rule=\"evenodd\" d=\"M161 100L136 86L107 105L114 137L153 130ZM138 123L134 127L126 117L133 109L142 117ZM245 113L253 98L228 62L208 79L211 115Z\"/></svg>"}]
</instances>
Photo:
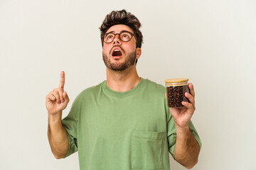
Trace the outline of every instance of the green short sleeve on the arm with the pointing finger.
<instances>
[{"instance_id":1,"label":"green short sleeve on the arm with the pointing finger","mask_svg":"<svg viewBox=\"0 0 256 170\"><path fill-rule=\"evenodd\" d=\"M75 98L73 105L71 106L70 112L68 115L63 118L62 123L68 135L68 154L65 157L70 156L78 151L78 139L77 139L77 124L78 124L78 98Z\"/></svg>"}]
</instances>

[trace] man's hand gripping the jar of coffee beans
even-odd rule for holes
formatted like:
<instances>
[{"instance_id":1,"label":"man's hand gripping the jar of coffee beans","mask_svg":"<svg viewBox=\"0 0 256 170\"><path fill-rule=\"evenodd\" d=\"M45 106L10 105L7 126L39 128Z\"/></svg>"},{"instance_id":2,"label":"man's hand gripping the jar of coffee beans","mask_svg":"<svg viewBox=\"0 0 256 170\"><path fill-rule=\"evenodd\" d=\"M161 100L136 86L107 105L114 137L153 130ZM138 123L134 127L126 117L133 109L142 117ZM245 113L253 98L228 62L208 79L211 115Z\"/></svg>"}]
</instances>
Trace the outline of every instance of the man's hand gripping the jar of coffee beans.
<instances>
[{"instance_id":1,"label":"man's hand gripping the jar of coffee beans","mask_svg":"<svg viewBox=\"0 0 256 170\"><path fill-rule=\"evenodd\" d=\"M188 122L191 120L191 117L196 110L195 107L195 91L193 89L193 84L188 84L188 89L190 94L185 93L186 98L190 101L190 103L186 101L182 101L182 105L186 108L169 108L172 117L174 118L174 123L178 128L186 128L188 127Z\"/></svg>"}]
</instances>

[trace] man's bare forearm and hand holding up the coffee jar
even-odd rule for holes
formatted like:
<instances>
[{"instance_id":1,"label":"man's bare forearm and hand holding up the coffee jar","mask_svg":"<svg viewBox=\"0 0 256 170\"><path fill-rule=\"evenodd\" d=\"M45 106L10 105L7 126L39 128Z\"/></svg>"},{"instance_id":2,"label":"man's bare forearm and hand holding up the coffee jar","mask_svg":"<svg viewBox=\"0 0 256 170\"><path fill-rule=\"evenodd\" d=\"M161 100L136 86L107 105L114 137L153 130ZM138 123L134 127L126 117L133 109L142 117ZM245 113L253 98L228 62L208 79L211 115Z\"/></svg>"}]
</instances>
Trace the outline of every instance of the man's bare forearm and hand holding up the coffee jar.
<instances>
[{"instance_id":1,"label":"man's bare forearm and hand holding up the coffee jar","mask_svg":"<svg viewBox=\"0 0 256 170\"><path fill-rule=\"evenodd\" d=\"M188 123L196 110L195 92L192 84L188 84L191 94L185 93L190 103L183 101L185 108L169 108L176 128L176 145L174 148L174 159L191 169L198 162L200 147L193 133L189 129Z\"/></svg>"}]
</instances>

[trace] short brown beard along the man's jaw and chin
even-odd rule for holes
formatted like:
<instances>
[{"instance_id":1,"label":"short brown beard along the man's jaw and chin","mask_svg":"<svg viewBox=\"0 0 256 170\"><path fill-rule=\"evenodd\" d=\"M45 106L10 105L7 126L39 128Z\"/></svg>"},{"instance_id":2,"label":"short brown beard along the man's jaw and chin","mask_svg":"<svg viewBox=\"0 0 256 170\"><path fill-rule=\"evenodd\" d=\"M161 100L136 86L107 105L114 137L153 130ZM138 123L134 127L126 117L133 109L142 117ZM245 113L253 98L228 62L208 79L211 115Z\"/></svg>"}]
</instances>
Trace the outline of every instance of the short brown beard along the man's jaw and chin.
<instances>
[{"instance_id":1,"label":"short brown beard along the man's jaw and chin","mask_svg":"<svg viewBox=\"0 0 256 170\"><path fill-rule=\"evenodd\" d=\"M112 69L116 72L122 72L125 69L134 65L136 61L136 50L128 54L124 62L111 62L110 57L107 57L106 54L102 53L103 61L108 69Z\"/></svg>"}]
</instances>

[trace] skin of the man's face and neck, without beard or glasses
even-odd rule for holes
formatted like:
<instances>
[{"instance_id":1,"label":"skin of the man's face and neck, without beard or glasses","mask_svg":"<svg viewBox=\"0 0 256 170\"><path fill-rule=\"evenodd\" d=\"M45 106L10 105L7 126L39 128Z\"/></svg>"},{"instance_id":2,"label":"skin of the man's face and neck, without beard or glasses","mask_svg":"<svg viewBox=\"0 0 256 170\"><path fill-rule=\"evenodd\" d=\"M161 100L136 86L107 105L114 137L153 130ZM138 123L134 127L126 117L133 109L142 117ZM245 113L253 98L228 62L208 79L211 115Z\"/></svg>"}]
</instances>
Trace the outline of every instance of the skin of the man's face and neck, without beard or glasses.
<instances>
[{"instance_id":1,"label":"skin of the man's face and neck, without beard or glasses","mask_svg":"<svg viewBox=\"0 0 256 170\"><path fill-rule=\"evenodd\" d=\"M134 33L131 28L124 25L115 25L112 26L107 33L114 31L114 33L120 33L122 30L128 30L131 33ZM112 57L112 48L114 46L119 46L122 50L122 57L115 59ZM136 47L136 39L132 36L132 40L129 42L122 42L119 39L119 36L116 35L113 42L103 44L102 56L106 56L112 65L124 64L132 53L135 53L134 62L131 66L123 71L114 71L107 67L107 86L113 91L129 91L133 89L137 84L139 84L140 78L137 74L135 61L139 59L142 55L142 50L139 47Z\"/></svg>"}]
</instances>

